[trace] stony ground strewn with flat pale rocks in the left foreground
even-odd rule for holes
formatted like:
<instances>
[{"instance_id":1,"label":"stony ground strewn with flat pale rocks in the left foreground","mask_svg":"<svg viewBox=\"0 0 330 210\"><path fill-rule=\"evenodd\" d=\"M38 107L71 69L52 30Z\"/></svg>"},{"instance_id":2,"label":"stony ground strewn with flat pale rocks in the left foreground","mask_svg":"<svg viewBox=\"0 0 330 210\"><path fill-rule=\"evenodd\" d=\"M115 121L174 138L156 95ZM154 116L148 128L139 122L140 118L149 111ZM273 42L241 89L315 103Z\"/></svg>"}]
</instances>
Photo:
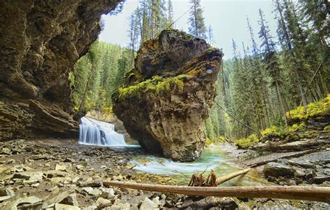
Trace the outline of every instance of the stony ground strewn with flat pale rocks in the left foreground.
<instances>
[{"instance_id":1,"label":"stony ground strewn with flat pale rocks in the left foreground","mask_svg":"<svg viewBox=\"0 0 330 210\"><path fill-rule=\"evenodd\" d=\"M0 209L259 209L327 208L320 202L187 197L124 188L105 180L177 184L168 176L134 170L143 153L79 145L77 140L13 140L0 143Z\"/></svg>"}]
</instances>

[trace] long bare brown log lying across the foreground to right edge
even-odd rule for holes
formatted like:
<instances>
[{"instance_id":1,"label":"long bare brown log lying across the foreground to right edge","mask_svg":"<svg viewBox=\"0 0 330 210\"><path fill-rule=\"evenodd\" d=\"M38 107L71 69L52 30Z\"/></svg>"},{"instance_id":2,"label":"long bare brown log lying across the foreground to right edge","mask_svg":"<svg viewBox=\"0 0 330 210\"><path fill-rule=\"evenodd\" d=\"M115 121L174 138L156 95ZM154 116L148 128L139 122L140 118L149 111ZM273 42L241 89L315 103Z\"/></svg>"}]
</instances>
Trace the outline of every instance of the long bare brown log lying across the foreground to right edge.
<instances>
[{"instance_id":1,"label":"long bare brown log lying across the foreground to right edge","mask_svg":"<svg viewBox=\"0 0 330 210\"><path fill-rule=\"evenodd\" d=\"M126 181L104 181L104 186L118 186L143 191L178 193L193 196L219 197L268 197L288 200L310 200L330 202L330 188L320 186L171 186L160 184L138 184Z\"/></svg>"}]
</instances>

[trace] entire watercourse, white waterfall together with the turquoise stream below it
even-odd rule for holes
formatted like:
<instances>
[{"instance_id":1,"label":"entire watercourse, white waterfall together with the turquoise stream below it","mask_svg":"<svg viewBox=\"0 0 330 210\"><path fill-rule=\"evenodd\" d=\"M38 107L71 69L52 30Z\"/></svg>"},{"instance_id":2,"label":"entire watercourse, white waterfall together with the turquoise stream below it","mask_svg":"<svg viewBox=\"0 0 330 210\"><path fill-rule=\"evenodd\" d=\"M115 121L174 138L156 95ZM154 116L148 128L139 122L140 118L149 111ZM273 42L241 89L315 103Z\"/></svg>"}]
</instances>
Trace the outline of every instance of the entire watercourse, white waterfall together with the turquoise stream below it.
<instances>
[{"instance_id":1,"label":"entire watercourse, white waterfall together with the turquoise stream below it","mask_svg":"<svg viewBox=\"0 0 330 210\"><path fill-rule=\"evenodd\" d=\"M195 172L201 173L205 170L205 179L214 170L217 177L228 175L241 170L235 165L233 158L228 156L221 147L207 147L201 154L201 158L187 163L174 162L160 156L146 154L139 145L127 145L122 134L114 131L113 124L95 120L92 118L81 118L79 130L79 143L84 145L98 145L112 147L117 151L136 151L136 155L129 160L129 165L134 165L136 172L163 175L174 179L178 184L187 185L191 175ZM256 169L230 179L221 186L256 186L269 184L263 175Z\"/></svg>"}]
</instances>

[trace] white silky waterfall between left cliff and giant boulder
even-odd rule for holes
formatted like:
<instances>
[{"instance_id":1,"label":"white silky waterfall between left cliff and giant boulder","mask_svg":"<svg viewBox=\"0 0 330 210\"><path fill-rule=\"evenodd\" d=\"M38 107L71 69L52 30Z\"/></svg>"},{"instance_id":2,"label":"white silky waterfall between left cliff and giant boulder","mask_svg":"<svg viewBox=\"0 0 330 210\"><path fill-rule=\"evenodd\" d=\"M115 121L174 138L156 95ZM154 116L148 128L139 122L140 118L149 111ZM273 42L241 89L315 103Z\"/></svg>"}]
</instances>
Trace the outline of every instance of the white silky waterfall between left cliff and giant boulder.
<instances>
[{"instance_id":1,"label":"white silky waterfall between left cliff and giant boulder","mask_svg":"<svg viewBox=\"0 0 330 210\"><path fill-rule=\"evenodd\" d=\"M113 124L81 118L79 125L79 143L86 145L125 146L123 134L118 134Z\"/></svg>"}]
</instances>

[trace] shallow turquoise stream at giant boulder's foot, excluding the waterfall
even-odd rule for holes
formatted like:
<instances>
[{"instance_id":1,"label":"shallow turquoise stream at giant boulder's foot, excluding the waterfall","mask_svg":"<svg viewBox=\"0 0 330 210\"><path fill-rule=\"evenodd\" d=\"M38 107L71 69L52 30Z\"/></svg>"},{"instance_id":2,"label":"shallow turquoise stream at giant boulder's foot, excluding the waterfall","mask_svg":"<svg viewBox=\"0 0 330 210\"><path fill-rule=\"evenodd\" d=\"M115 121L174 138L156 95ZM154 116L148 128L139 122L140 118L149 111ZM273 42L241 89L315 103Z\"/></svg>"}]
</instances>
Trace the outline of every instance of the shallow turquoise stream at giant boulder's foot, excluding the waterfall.
<instances>
[{"instance_id":1,"label":"shallow turquoise stream at giant boulder's foot, excluding the waterfall","mask_svg":"<svg viewBox=\"0 0 330 210\"><path fill-rule=\"evenodd\" d=\"M194 172L201 173L205 169L203 176L205 179L210 170L216 172L217 177L228 175L241 170L233 162L233 158L228 156L221 147L207 147L203 151L201 158L188 163L174 162L159 156L140 154L135 156L129 164L135 165L134 170L155 175L166 175L178 181L178 184L187 185ZM221 186L256 186L269 185L269 182L258 173L256 169L251 170L246 175L241 175L230 179Z\"/></svg>"}]
</instances>

